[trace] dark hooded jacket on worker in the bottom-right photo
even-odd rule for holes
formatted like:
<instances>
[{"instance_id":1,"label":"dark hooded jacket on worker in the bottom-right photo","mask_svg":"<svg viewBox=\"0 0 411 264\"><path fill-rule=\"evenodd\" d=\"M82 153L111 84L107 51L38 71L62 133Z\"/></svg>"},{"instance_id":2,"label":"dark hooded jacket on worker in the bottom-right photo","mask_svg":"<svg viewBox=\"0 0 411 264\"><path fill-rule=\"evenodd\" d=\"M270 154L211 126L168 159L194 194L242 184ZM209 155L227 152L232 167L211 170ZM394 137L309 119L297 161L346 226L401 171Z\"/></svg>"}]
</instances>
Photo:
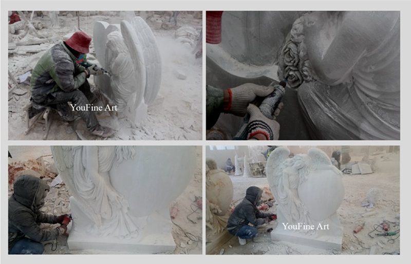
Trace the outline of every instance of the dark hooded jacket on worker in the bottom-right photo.
<instances>
[{"instance_id":1,"label":"dark hooded jacket on worker in the bottom-right photo","mask_svg":"<svg viewBox=\"0 0 411 264\"><path fill-rule=\"evenodd\" d=\"M260 225L265 223L266 217L271 214L262 213L257 209L257 202L261 198L263 190L256 186L247 189L246 197L235 207L227 223L227 230L232 235L236 235L238 230L249 223Z\"/></svg>"}]
</instances>

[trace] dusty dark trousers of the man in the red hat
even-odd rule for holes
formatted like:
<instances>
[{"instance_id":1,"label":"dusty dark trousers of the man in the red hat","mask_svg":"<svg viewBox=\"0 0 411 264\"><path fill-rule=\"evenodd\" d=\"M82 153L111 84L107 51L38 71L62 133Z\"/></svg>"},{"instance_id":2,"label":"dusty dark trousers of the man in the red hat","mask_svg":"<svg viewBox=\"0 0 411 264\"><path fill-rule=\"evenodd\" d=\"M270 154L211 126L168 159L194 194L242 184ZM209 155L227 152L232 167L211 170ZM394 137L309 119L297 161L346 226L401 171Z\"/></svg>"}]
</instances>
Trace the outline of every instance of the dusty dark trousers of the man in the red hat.
<instances>
[{"instance_id":1,"label":"dusty dark trousers of the man in the red hat","mask_svg":"<svg viewBox=\"0 0 411 264\"><path fill-rule=\"evenodd\" d=\"M50 95L47 96L47 99L41 104L47 106L55 105L55 108L64 115L64 113L73 111L73 108L68 105L68 102L71 102L73 106L79 106L79 109L86 109L86 105L89 104L87 98L90 98L91 96L90 84L86 80L78 90L69 92L61 90L50 93ZM86 123L88 131L92 132L99 125L96 115L91 110L77 110L77 112L81 119Z\"/></svg>"}]
</instances>

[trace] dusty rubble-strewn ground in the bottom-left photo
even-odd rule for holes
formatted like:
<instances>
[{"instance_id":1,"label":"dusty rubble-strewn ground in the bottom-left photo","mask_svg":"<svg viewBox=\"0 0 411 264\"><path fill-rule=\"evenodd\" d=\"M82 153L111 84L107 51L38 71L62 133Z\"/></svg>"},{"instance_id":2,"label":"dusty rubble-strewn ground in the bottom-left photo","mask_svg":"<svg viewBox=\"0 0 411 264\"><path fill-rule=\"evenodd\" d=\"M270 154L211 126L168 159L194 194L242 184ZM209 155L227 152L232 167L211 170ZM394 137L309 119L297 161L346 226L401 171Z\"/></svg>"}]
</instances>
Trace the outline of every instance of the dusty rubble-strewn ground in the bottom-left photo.
<instances>
[{"instance_id":1,"label":"dusty rubble-strewn ground in the bottom-left photo","mask_svg":"<svg viewBox=\"0 0 411 264\"><path fill-rule=\"evenodd\" d=\"M48 146L9 146L12 158L9 158L9 182L18 168L33 169L35 172L45 175L44 179L51 181L56 177L53 167L53 158ZM202 253L202 210L195 202L196 197L202 199L202 148L197 147L196 171L194 177L184 192L170 204L170 208L178 209L178 214L173 219L172 235L176 243L173 252L163 254L201 254ZM41 160L42 159L42 160ZM40 163L38 162L40 161ZM43 165L42 165L43 164ZM10 166L17 168L10 171ZM43 172L42 172L43 171ZM12 194L12 184L9 184L9 197ZM44 212L61 215L70 213L69 208L70 192L63 183L50 188L50 192L45 199ZM58 227L59 224L42 224L44 229ZM71 223L68 225L70 233ZM133 254L132 252L115 252L99 250L70 250L67 246L68 236L59 236L57 241L45 242L45 254Z\"/></svg>"}]
</instances>

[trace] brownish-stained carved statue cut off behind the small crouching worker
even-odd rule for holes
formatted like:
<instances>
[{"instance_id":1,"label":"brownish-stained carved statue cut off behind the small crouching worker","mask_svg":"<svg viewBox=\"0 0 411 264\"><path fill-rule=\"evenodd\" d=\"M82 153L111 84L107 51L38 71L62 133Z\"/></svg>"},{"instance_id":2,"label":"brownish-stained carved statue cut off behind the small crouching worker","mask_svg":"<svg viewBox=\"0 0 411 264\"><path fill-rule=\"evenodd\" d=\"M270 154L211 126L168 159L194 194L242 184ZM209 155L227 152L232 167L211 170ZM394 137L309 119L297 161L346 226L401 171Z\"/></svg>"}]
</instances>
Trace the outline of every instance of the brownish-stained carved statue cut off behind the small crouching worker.
<instances>
[{"instance_id":1,"label":"brownish-stained carved statue cut off behind the small crouching worker","mask_svg":"<svg viewBox=\"0 0 411 264\"><path fill-rule=\"evenodd\" d=\"M206 227L207 238L218 235L227 227L233 200L233 183L225 171L217 168L215 160L206 160Z\"/></svg>"}]
</instances>

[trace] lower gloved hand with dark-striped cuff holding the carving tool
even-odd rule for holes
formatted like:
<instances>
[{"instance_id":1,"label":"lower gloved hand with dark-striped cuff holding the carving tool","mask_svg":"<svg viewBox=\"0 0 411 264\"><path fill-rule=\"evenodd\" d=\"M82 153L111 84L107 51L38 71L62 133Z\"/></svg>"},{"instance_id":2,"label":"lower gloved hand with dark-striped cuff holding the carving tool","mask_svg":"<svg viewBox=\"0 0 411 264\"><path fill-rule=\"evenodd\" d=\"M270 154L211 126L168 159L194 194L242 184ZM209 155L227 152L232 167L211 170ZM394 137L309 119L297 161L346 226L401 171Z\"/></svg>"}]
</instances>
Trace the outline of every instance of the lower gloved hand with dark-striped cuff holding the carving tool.
<instances>
[{"instance_id":1,"label":"lower gloved hand with dark-striped cuff holding the carving tool","mask_svg":"<svg viewBox=\"0 0 411 264\"><path fill-rule=\"evenodd\" d=\"M247 112L250 114L247 139L278 140L279 124L277 121L266 118L253 104L248 106Z\"/></svg>"}]
</instances>

